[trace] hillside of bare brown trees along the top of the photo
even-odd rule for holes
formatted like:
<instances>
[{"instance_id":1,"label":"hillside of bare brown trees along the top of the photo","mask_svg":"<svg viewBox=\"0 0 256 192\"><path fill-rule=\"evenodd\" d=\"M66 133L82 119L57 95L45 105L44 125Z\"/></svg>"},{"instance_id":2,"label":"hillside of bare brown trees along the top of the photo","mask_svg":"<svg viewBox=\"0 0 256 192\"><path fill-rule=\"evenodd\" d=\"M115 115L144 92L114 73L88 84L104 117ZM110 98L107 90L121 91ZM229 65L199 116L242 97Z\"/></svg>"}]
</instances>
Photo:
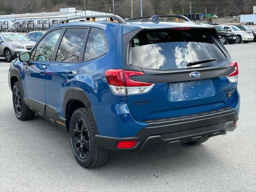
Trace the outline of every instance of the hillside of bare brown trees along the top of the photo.
<instances>
[{"instance_id":1,"label":"hillside of bare brown trees along the top of the photo","mask_svg":"<svg viewBox=\"0 0 256 192\"><path fill-rule=\"evenodd\" d=\"M140 16L140 0L132 0L133 17ZM143 16L153 14L189 14L190 0L142 0ZM256 0L194 0L191 2L192 13L216 14L221 17L252 14ZM50 12L59 8L76 7L84 9L84 0L0 0L0 14ZM113 12L112 0L86 0L86 10ZM131 17L131 0L114 0L114 14L123 18Z\"/></svg>"}]
</instances>

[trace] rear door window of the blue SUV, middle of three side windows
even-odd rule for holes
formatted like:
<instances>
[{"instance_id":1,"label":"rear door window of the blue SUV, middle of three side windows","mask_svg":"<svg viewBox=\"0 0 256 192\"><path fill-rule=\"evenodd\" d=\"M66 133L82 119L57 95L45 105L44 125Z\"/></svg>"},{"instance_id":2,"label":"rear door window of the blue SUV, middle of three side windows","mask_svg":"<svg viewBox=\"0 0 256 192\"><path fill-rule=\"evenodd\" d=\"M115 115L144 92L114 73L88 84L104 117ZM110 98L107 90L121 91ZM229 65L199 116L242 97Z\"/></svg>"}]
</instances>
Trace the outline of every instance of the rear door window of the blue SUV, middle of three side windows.
<instances>
[{"instance_id":1,"label":"rear door window of the blue SUV, middle of three side windows","mask_svg":"<svg viewBox=\"0 0 256 192\"><path fill-rule=\"evenodd\" d=\"M82 48L86 37L86 28L68 28L58 48L56 61L78 62L80 54L84 54Z\"/></svg>"}]
</instances>

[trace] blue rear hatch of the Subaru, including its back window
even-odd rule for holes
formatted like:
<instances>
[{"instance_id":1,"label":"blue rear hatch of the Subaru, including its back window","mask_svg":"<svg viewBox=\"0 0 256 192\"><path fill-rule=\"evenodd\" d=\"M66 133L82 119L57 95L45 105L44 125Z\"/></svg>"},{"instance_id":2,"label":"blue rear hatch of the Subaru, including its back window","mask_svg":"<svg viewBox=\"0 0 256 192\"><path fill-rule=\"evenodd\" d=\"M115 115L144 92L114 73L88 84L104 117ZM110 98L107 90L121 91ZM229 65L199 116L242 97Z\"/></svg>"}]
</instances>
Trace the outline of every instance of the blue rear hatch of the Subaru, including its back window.
<instances>
[{"instance_id":1,"label":"blue rear hatch of the Subaru, including its back window","mask_svg":"<svg viewBox=\"0 0 256 192\"><path fill-rule=\"evenodd\" d=\"M153 84L149 91L127 94L128 108L136 120L196 114L227 107L236 89L226 76L232 73L227 52L216 30L172 28L142 30L129 43L125 70L144 75L132 80ZM194 61L216 59L193 66ZM230 59L230 58L229 58Z\"/></svg>"}]
</instances>

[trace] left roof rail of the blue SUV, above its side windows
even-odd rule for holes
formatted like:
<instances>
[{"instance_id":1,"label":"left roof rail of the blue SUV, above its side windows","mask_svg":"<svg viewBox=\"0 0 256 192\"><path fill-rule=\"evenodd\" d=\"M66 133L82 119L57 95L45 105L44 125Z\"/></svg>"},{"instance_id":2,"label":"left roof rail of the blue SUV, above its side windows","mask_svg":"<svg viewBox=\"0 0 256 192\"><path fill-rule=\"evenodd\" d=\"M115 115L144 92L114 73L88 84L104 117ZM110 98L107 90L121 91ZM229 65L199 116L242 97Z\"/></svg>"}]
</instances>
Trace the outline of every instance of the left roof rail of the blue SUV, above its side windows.
<instances>
[{"instance_id":1,"label":"left roof rail of the blue SUV, above its side windows","mask_svg":"<svg viewBox=\"0 0 256 192\"><path fill-rule=\"evenodd\" d=\"M65 19L62 22L60 22L60 24L68 23L70 20L76 20L76 19L86 19L84 21L95 21L95 18L108 18L108 21L110 22L115 22L114 20L116 20L116 22L118 23L126 23L124 19L118 15L90 15L90 16L88 15L88 16Z\"/></svg>"}]
</instances>

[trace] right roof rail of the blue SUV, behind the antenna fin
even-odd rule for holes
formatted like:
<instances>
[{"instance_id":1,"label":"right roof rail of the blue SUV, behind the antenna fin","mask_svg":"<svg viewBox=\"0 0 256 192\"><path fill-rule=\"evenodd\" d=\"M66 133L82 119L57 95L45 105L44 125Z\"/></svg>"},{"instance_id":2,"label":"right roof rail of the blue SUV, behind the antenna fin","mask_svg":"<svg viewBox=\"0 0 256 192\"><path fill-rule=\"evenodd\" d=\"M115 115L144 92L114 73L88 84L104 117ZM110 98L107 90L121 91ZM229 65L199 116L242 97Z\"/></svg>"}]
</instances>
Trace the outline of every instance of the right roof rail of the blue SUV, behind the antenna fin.
<instances>
[{"instance_id":1,"label":"right roof rail of the blue SUV, behind the antenna fin","mask_svg":"<svg viewBox=\"0 0 256 192\"><path fill-rule=\"evenodd\" d=\"M161 20L161 18L174 18L175 21L178 21L178 22L182 22L182 21L191 22L191 20L189 18L187 18L185 16L182 16L182 15L153 15L153 16L130 18L126 21L128 21L128 22L132 22L132 21L140 21L140 22L144 22L144 21L156 21L156 22L164 21L164 20Z\"/></svg>"}]
</instances>

